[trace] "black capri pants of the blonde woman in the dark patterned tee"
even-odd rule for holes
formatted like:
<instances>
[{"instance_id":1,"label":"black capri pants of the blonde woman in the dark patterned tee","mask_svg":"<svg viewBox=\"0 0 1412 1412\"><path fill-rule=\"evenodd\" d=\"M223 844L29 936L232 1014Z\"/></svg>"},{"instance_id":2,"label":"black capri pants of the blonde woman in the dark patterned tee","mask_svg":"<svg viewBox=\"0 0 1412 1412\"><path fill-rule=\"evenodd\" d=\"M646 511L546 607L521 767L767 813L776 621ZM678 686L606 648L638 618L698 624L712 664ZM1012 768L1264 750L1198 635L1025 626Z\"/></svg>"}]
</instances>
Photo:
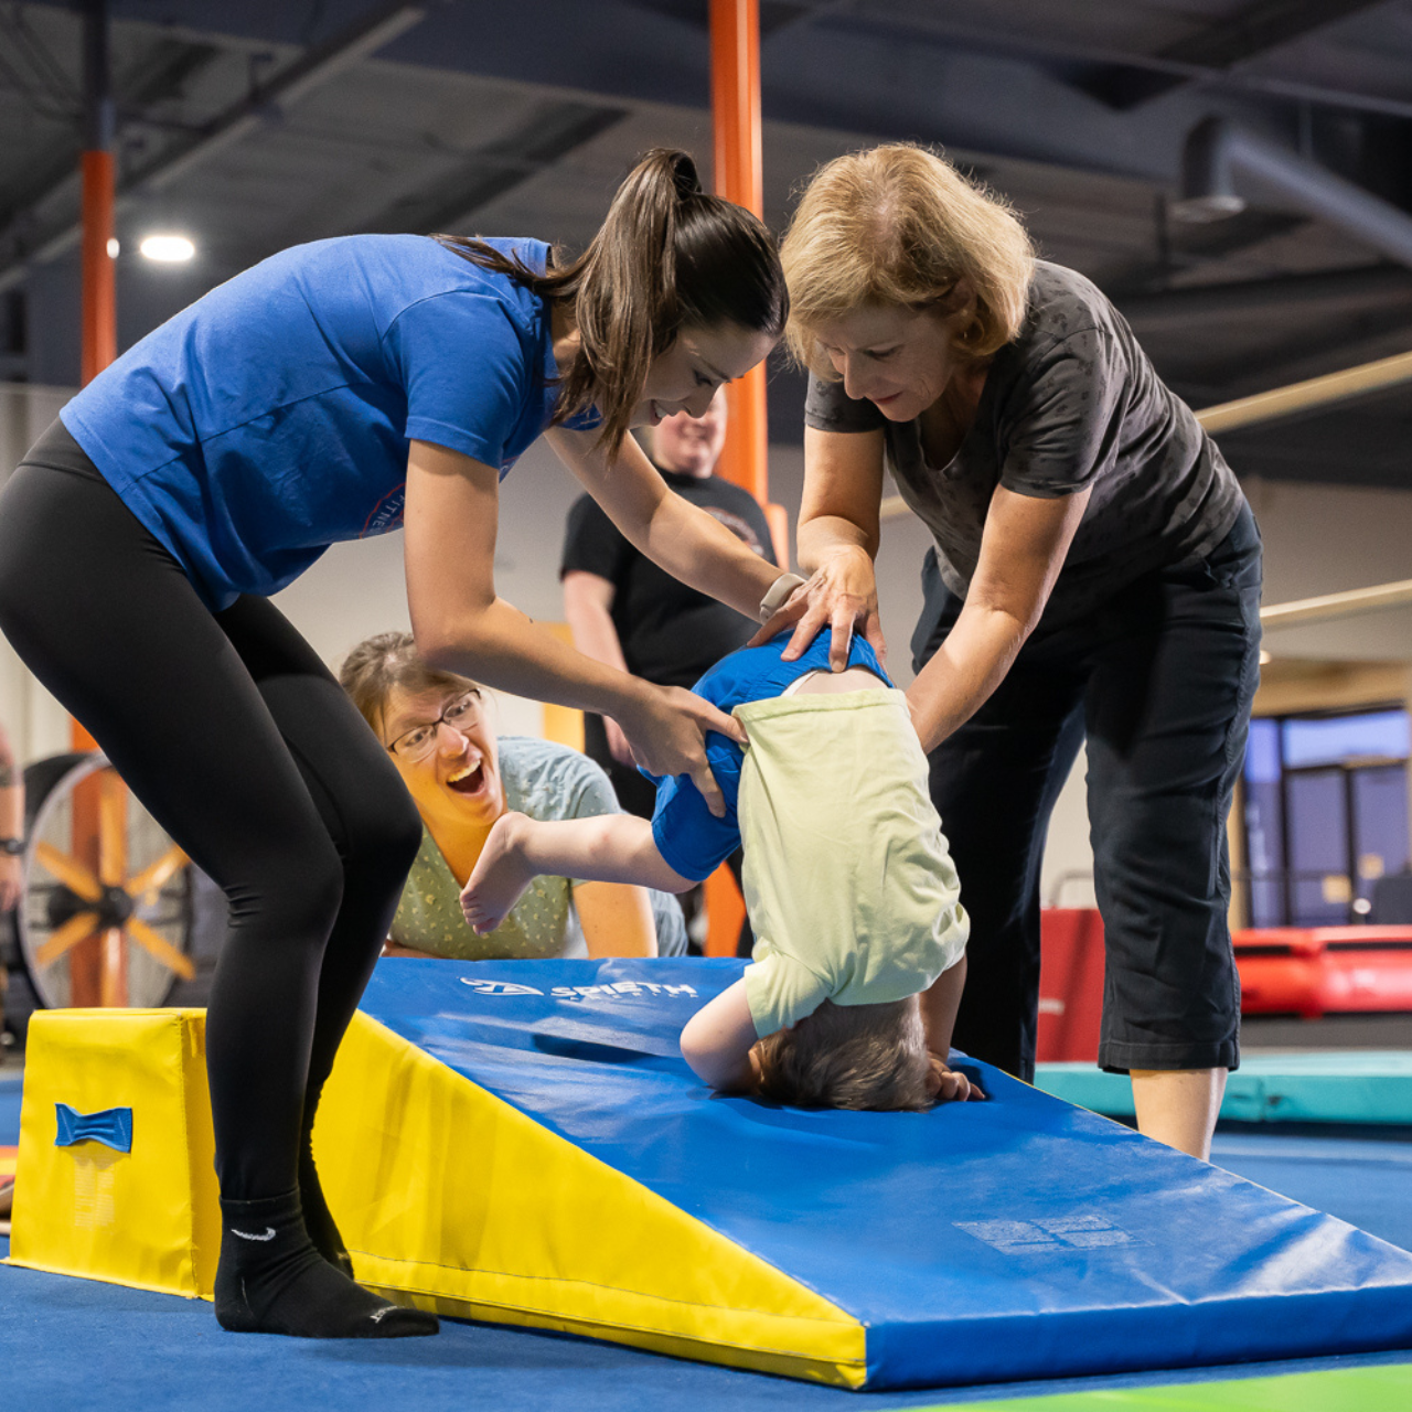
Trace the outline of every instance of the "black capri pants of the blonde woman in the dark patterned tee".
<instances>
[{"instance_id":1,"label":"black capri pants of the blonde woman in the dark patterned tee","mask_svg":"<svg viewBox=\"0 0 1412 1412\"><path fill-rule=\"evenodd\" d=\"M922 570L918 671L962 600ZM1089 825L1107 969L1099 1065L1234 1069L1226 816L1260 675L1260 531L1248 507L1204 559L1039 628L994 696L931 754L932 799L971 916L953 1043L1035 1070L1039 867L1049 815L1089 748Z\"/></svg>"}]
</instances>

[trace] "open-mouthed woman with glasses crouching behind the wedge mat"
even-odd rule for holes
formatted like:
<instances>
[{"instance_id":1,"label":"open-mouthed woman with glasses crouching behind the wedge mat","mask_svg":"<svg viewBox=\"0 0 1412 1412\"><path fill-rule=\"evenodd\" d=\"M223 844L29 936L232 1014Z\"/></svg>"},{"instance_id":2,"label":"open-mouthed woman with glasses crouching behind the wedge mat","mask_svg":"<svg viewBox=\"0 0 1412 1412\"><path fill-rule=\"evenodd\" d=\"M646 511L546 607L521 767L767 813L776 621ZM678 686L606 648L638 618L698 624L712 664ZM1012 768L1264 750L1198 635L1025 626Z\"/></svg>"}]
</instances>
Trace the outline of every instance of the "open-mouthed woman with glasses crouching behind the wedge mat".
<instances>
[{"instance_id":1,"label":"open-mouthed woman with glasses crouching behind the wedge mat","mask_svg":"<svg viewBox=\"0 0 1412 1412\"><path fill-rule=\"evenodd\" d=\"M620 882L538 877L510 915L484 936L460 909L496 820L513 809L531 819L618 813L607 775L587 755L549 740L497 738L481 688L439 672L407 633L370 637L339 672L373 733L387 747L422 816L422 844L393 918L387 955L457 960L563 956L578 931L589 956L676 956L686 949L675 897Z\"/></svg>"}]
</instances>

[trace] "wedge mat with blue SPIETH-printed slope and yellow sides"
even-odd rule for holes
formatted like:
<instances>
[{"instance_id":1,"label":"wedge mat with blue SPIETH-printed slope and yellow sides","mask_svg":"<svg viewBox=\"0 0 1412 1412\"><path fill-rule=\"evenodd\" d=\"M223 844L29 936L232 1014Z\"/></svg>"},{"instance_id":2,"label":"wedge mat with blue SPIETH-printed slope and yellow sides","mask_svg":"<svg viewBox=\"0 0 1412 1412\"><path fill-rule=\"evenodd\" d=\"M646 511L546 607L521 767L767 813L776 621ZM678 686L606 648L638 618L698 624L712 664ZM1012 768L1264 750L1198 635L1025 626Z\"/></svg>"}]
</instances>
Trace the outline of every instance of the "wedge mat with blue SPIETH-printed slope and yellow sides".
<instances>
[{"instance_id":1,"label":"wedge mat with blue SPIETH-printed slope and yellow sides","mask_svg":"<svg viewBox=\"0 0 1412 1412\"><path fill-rule=\"evenodd\" d=\"M990 1103L925 1114L712 1094L678 1034L741 966L380 963L315 1130L359 1278L448 1315L844 1387L1412 1344L1412 1254L984 1066ZM37 1017L31 1045L47 1018L62 1028ZM47 1038L31 1051L25 1264L55 1268L40 1247L72 1217L24 1195L41 1149L78 1151L54 1148L54 1104L133 1091L107 1052L109 1087L65 1100L96 1067ZM144 1161L154 1127L138 1100L131 1152L103 1161ZM119 1199L114 1233L124 1214Z\"/></svg>"}]
</instances>

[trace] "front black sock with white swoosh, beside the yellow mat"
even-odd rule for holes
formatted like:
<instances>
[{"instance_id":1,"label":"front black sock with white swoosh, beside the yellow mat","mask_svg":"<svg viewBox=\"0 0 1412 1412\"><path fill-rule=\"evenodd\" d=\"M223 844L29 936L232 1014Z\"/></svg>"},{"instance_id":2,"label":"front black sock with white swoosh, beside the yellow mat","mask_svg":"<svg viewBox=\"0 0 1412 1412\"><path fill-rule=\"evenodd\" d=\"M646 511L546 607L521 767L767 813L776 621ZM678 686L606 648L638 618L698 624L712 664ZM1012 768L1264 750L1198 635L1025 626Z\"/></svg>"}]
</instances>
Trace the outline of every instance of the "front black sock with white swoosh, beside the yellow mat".
<instances>
[{"instance_id":1,"label":"front black sock with white swoosh, beside the yellow mat","mask_svg":"<svg viewBox=\"0 0 1412 1412\"><path fill-rule=\"evenodd\" d=\"M436 1333L435 1315L404 1309L339 1274L313 1248L298 1190L222 1199L216 1319L236 1333L299 1339L405 1339Z\"/></svg>"}]
</instances>

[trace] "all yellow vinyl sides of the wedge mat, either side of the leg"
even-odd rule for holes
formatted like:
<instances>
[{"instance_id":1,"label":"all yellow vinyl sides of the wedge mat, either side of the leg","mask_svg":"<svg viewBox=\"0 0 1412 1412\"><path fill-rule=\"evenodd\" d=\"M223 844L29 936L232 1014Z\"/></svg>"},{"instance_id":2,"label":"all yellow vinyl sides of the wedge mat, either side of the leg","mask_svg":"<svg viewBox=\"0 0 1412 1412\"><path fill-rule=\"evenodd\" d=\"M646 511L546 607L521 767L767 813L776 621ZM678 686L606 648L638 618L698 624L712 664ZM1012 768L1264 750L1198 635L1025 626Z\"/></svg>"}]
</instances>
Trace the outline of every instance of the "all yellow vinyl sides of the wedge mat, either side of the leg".
<instances>
[{"instance_id":1,"label":"all yellow vinyl sides of the wedge mat, either side of the leg","mask_svg":"<svg viewBox=\"0 0 1412 1412\"><path fill-rule=\"evenodd\" d=\"M34 1017L13 1264L210 1298L203 1022L198 1010ZM131 1110L131 1151L56 1147L56 1104ZM367 1015L339 1051L313 1142L354 1272L405 1303L864 1381L857 1319Z\"/></svg>"}]
</instances>

